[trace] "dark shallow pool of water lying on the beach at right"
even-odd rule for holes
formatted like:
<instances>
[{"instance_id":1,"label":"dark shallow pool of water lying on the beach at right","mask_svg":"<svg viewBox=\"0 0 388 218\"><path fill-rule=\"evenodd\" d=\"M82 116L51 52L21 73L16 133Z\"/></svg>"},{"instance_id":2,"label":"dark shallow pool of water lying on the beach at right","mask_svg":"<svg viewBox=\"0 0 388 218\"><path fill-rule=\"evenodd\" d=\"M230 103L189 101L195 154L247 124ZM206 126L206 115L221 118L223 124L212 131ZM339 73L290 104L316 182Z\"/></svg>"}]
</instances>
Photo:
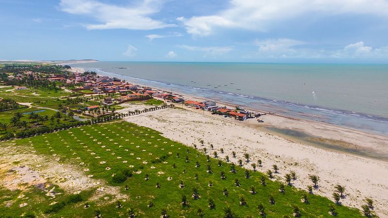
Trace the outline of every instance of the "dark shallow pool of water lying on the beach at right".
<instances>
[{"instance_id":1,"label":"dark shallow pool of water lying on the beach at right","mask_svg":"<svg viewBox=\"0 0 388 218\"><path fill-rule=\"evenodd\" d=\"M388 161L387 155L378 154L372 151L366 151L364 149L358 148L355 144L351 144L345 141L317 138L315 136L293 129L282 129L276 127L263 128L271 133L275 133L280 136L285 136L286 139L291 138L291 140L295 140L308 145L313 145L315 147L345 152L356 156L367 156L373 159Z\"/></svg>"}]
</instances>

